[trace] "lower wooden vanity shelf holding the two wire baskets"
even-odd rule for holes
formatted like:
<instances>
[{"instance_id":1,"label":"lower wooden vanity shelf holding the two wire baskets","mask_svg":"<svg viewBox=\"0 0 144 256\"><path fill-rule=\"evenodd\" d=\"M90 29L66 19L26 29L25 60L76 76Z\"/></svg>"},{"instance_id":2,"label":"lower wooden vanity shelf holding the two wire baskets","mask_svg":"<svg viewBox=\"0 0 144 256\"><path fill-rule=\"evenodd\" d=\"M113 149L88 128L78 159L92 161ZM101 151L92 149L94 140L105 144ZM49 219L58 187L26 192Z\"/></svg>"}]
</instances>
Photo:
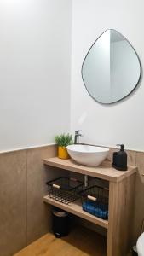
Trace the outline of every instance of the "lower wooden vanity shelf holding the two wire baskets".
<instances>
[{"instance_id":1,"label":"lower wooden vanity shelf holding the two wire baskets","mask_svg":"<svg viewBox=\"0 0 144 256\"><path fill-rule=\"evenodd\" d=\"M74 203L65 205L65 204L61 203L60 201L55 201L54 199L50 198L49 195L44 196L43 201L52 206L59 207L66 212L71 212L72 214L74 214L80 218L87 219L90 222L98 224L103 228L108 229L108 221L101 219L101 218L97 218L97 217L89 214L88 212L84 212L80 201L75 201Z\"/></svg>"}]
</instances>

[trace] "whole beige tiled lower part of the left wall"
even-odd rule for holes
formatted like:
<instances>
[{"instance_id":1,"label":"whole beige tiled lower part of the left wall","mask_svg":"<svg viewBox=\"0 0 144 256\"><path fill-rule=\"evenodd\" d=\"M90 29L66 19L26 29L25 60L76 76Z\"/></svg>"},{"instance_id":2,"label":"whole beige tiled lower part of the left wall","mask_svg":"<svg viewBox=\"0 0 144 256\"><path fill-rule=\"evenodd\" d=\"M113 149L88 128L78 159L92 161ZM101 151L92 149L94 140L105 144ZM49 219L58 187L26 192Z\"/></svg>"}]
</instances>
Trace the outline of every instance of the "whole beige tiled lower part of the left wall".
<instances>
[{"instance_id":1,"label":"whole beige tiled lower part of the left wall","mask_svg":"<svg viewBox=\"0 0 144 256\"><path fill-rule=\"evenodd\" d=\"M55 145L0 154L0 256L18 252L51 228L45 183L69 175L43 165L56 154Z\"/></svg>"}]
</instances>

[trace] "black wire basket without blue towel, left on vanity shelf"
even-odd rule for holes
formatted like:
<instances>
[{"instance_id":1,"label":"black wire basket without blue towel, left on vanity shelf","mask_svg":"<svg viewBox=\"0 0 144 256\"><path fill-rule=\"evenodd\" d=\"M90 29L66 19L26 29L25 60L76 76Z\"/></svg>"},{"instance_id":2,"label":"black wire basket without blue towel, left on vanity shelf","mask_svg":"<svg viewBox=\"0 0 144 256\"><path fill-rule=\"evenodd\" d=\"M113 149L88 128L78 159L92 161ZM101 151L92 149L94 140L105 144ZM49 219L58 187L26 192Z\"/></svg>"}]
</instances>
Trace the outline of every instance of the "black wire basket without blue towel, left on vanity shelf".
<instances>
[{"instance_id":1,"label":"black wire basket without blue towel, left on vanity shelf","mask_svg":"<svg viewBox=\"0 0 144 256\"><path fill-rule=\"evenodd\" d=\"M49 197L69 204L80 198L79 191L84 189L84 183L76 178L58 177L47 182Z\"/></svg>"}]
</instances>

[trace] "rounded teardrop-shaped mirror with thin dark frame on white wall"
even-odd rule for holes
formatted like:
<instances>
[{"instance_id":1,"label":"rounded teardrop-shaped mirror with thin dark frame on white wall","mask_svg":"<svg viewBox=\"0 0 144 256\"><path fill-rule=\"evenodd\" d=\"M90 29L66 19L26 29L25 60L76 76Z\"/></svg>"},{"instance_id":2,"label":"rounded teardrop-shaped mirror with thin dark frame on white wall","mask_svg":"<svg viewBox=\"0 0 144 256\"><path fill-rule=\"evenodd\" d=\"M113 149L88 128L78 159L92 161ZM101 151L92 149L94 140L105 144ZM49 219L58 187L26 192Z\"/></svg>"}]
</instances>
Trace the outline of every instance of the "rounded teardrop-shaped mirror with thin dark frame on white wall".
<instances>
[{"instance_id":1,"label":"rounded teardrop-shaped mirror with thin dark frame on white wall","mask_svg":"<svg viewBox=\"0 0 144 256\"><path fill-rule=\"evenodd\" d=\"M82 66L82 78L89 95L104 104L128 96L140 76L141 64L135 49L113 29L95 41Z\"/></svg>"}]
</instances>

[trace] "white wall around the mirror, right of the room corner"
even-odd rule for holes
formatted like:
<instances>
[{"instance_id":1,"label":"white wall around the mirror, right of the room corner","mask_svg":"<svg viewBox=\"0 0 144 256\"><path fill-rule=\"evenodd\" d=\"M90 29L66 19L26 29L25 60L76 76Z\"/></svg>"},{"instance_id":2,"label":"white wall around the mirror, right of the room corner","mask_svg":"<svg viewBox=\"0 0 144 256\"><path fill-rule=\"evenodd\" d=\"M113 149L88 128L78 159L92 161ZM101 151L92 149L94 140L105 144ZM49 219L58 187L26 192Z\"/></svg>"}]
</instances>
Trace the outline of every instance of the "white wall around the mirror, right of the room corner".
<instances>
[{"instance_id":1,"label":"white wall around the mirror, right of the room corner","mask_svg":"<svg viewBox=\"0 0 144 256\"><path fill-rule=\"evenodd\" d=\"M82 129L84 143L144 149L144 83L125 100L110 106L95 102L85 90L81 66L91 44L108 28L128 38L144 63L142 0L73 0L72 131Z\"/></svg>"}]
</instances>

